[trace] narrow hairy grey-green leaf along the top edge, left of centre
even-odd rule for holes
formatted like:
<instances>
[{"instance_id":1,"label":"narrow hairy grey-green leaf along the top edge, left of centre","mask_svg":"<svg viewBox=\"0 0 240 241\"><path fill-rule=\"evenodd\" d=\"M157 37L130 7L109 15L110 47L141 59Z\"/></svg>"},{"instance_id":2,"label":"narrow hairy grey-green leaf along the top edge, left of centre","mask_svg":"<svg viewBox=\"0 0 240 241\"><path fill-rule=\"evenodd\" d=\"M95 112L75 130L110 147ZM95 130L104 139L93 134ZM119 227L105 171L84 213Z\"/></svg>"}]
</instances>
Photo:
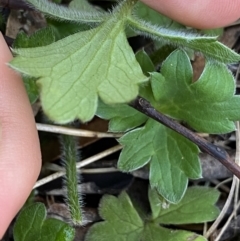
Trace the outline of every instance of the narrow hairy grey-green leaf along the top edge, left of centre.
<instances>
[{"instance_id":1,"label":"narrow hairy grey-green leaf along the top edge, left of centre","mask_svg":"<svg viewBox=\"0 0 240 241\"><path fill-rule=\"evenodd\" d=\"M80 11L79 9L67 8L62 5L49 2L48 0L26 0L42 13L49 17L80 23L99 23L109 15L96 11Z\"/></svg>"}]
</instances>

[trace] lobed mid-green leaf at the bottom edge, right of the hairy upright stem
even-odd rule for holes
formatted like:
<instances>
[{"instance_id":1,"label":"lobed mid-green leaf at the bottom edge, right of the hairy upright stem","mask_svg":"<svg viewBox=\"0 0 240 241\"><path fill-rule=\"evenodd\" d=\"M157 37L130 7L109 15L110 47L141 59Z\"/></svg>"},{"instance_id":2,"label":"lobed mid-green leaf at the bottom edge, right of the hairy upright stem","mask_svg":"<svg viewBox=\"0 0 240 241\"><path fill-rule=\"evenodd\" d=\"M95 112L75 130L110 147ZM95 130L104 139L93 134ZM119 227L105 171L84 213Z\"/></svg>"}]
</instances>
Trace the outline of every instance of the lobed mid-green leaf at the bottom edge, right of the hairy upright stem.
<instances>
[{"instance_id":1,"label":"lobed mid-green leaf at the bottom edge, right of the hairy upright stem","mask_svg":"<svg viewBox=\"0 0 240 241\"><path fill-rule=\"evenodd\" d=\"M125 192L120 194L118 198L105 195L99 208L104 222L93 225L88 232L86 241L205 241L206 239L201 235L171 230L166 225L203 223L214 220L219 213L214 206L219 193L212 188L189 188L177 205L168 204L159 197L155 189L150 189L148 196L152 213L150 216L147 214L140 216ZM144 211L140 213L144 213Z\"/></svg>"}]
</instances>

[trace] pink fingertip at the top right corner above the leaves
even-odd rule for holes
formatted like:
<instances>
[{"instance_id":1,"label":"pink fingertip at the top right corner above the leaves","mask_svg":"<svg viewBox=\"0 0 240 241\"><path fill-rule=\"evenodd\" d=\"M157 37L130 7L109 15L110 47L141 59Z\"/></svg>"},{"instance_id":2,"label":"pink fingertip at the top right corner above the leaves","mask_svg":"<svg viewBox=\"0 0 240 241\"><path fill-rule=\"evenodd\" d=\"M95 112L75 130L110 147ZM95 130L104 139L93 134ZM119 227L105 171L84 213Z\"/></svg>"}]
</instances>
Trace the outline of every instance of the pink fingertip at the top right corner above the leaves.
<instances>
[{"instance_id":1,"label":"pink fingertip at the top right corner above the leaves","mask_svg":"<svg viewBox=\"0 0 240 241\"><path fill-rule=\"evenodd\" d=\"M142 0L184 25L209 29L226 26L240 17L239 0Z\"/></svg>"}]
</instances>

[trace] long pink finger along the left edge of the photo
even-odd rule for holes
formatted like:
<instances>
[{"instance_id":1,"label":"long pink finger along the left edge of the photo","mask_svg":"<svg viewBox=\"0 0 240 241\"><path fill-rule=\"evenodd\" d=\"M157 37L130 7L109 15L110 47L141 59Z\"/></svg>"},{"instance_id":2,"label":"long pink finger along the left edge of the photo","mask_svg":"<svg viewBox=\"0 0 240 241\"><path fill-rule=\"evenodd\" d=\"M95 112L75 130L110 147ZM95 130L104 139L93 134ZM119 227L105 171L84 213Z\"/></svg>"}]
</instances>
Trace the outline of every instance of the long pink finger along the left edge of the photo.
<instances>
[{"instance_id":1,"label":"long pink finger along the left edge of the photo","mask_svg":"<svg viewBox=\"0 0 240 241\"><path fill-rule=\"evenodd\" d=\"M31 106L0 33L0 238L29 196L41 154Z\"/></svg>"}]
</instances>

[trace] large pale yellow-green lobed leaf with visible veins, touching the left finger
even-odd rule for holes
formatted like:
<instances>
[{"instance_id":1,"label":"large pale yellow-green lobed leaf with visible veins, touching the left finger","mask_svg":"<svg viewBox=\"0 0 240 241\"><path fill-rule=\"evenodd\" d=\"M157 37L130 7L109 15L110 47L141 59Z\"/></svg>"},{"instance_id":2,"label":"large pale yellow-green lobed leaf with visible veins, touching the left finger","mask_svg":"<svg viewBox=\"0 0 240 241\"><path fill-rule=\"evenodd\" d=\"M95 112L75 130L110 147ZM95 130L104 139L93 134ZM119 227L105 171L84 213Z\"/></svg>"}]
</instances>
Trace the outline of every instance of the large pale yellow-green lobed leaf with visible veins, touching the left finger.
<instances>
[{"instance_id":1,"label":"large pale yellow-green lobed leaf with visible veins, touching the left finger","mask_svg":"<svg viewBox=\"0 0 240 241\"><path fill-rule=\"evenodd\" d=\"M89 121L98 96L110 104L129 102L137 96L138 84L147 80L126 40L124 20L115 16L54 44L16 50L11 66L41 77L42 106L53 121Z\"/></svg>"}]
</instances>

